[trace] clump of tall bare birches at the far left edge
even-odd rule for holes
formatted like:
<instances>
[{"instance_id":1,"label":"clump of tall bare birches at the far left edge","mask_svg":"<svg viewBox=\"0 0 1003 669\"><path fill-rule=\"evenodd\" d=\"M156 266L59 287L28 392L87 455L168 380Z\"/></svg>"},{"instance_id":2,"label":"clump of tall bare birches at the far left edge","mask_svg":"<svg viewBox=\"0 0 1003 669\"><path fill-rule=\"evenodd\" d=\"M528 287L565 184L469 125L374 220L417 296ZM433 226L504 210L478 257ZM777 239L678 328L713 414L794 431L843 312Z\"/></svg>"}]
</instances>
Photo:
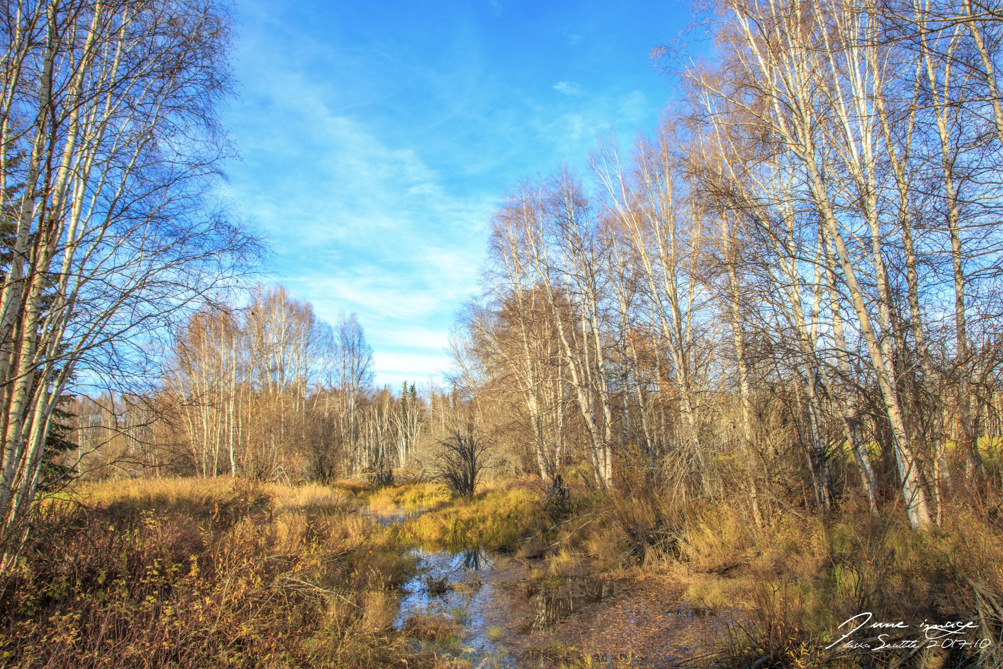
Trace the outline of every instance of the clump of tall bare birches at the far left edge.
<instances>
[{"instance_id":1,"label":"clump of tall bare birches at the far left edge","mask_svg":"<svg viewBox=\"0 0 1003 669\"><path fill-rule=\"evenodd\" d=\"M0 15L4 567L74 375L120 368L130 342L253 246L206 195L229 150L216 120L229 26L224 7L185 0L24 1Z\"/></svg>"}]
</instances>

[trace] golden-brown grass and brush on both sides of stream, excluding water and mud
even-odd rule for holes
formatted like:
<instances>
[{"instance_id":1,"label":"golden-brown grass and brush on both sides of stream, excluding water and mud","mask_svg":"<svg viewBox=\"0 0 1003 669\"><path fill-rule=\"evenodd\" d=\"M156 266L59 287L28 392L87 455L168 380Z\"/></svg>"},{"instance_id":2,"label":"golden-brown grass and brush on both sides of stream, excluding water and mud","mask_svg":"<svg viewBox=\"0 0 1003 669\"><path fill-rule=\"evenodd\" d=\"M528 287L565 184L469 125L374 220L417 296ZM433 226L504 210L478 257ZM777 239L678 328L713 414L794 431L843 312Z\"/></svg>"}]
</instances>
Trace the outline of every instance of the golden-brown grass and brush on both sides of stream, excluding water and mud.
<instances>
[{"instance_id":1,"label":"golden-brown grass and brush on both sides of stream, excluding water and mud","mask_svg":"<svg viewBox=\"0 0 1003 669\"><path fill-rule=\"evenodd\" d=\"M914 532L901 515L851 504L775 511L757 525L726 504L572 492L555 506L524 485L450 498L432 483L89 484L41 506L16 569L0 578L0 668L445 666L433 647L458 643L455 620L392 626L415 545L520 549L546 559L540 579L583 569L664 579L730 621L691 666L1003 666L993 505L959 504L941 527ZM423 513L382 527L357 513L366 507ZM863 612L971 620L994 644L913 655L826 648ZM565 650L542 657L594 661Z\"/></svg>"}]
</instances>

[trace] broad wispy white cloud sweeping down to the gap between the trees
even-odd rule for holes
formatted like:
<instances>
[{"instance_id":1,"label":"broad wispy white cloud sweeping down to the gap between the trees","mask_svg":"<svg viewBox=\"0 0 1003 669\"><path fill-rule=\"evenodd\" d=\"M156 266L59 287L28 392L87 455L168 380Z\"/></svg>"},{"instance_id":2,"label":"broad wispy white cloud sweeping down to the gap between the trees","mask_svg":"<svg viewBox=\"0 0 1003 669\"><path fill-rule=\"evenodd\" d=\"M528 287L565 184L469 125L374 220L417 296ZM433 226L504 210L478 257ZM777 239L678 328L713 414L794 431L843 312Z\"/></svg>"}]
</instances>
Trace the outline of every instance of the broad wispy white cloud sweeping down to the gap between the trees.
<instances>
[{"instance_id":1,"label":"broad wispy white cloud sweeping down to the gap between the trees","mask_svg":"<svg viewBox=\"0 0 1003 669\"><path fill-rule=\"evenodd\" d=\"M275 278L325 320L359 315L378 382L438 372L452 311L476 290L490 202L338 113L308 76L267 59L253 69L245 97L270 113L239 116L246 161L230 192L270 235Z\"/></svg>"}]
</instances>

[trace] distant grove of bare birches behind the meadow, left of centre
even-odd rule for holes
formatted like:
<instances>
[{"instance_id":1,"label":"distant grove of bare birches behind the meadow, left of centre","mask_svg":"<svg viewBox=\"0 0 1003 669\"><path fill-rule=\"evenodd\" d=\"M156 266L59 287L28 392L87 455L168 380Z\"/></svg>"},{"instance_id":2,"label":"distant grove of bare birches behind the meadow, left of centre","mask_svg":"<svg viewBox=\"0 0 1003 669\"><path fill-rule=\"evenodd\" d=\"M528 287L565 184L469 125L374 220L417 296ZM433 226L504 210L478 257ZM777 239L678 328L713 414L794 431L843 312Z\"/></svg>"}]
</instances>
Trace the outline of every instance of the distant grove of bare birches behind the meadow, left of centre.
<instances>
[{"instance_id":1,"label":"distant grove of bare birches behind the meadow, left of centre","mask_svg":"<svg viewBox=\"0 0 1003 669\"><path fill-rule=\"evenodd\" d=\"M390 482L428 469L426 442L448 438L464 414L427 381L420 392L377 388L356 315L329 324L281 286L192 314L161 374L152 392L67 401L61 429L75 448L63 473Z\"/></svg>"}]
</instances>

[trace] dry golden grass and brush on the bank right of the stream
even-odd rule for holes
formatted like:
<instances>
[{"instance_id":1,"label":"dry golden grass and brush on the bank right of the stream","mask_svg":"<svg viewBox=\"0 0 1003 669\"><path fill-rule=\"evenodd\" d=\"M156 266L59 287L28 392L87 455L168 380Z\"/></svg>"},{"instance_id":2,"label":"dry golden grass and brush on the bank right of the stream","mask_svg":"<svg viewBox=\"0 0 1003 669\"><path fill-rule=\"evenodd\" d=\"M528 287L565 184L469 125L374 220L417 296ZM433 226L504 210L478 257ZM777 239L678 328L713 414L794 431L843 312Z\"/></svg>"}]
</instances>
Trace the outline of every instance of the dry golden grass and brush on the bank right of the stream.
<instances>
[{"instance_id":1,"label":"dry golden grass and brush on the bank right of the stream","mask_svg":"<svg viewBox=\"0 0 1003 669\"><path fill-rule=\"evenodd\" d=\"M883 520L853 500L828 514L803 507L775 513L757 527L746 509L727 503L671 508L665 497L632 492L593 498L591 508L572 500L573 517L595 521L581 530L579 521L555 526L524 542L524 553L547 556L530 578L562 577L589 564L617 578L668 576L692 606L734 612L740 621L732 633L703 640L713 649L703 657L707 667L759 660L798 669L859 666L862 657L824 647L839 638L841 623L864 611L915 624L975 620L980 638L997 640L981 654L960 645L943 657L925 651L904 668L1003 666L1003 514L992 495L959 498L945 508L942 527L914 532L901 509L886 510ZM976 597L972 584L984 594Z\"/></svg>"}]
</instances>

